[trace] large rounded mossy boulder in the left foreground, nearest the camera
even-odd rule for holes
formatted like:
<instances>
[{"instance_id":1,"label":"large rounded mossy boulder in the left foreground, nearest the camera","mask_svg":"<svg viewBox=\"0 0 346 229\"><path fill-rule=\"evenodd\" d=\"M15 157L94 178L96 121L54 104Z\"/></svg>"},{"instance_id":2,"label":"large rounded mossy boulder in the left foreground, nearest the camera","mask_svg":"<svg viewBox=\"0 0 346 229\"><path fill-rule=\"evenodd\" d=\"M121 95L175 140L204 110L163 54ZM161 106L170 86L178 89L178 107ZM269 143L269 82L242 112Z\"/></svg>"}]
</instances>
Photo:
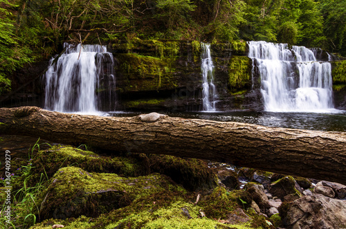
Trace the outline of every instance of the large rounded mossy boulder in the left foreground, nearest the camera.
<instances>
[{"instance_id":1,"label":"large rounded mossy boulder in the left foreground, nearest the camera","mask_svg":"<svg viewBox=\"0 0 346 229\"><path fill-rule=\"evenodd\" d=\"M42 219L97 217L163 190L183 191L159 174L125 178L118 174L86 172L78 167L62 167L42 193L40 215Z\"/></svg>"}]
</instances>

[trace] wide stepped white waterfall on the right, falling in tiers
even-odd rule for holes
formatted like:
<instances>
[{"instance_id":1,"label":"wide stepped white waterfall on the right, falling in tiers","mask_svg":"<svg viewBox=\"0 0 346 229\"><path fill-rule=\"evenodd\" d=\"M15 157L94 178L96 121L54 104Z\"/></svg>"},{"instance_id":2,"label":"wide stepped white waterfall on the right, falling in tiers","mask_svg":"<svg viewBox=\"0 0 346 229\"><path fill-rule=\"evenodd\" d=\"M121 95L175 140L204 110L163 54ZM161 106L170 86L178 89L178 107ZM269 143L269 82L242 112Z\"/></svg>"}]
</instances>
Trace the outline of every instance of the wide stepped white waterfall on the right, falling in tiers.
<instances>
[{"instance_id":1,"label":"wide stepped white waterfall on the right, falling in tiers","mask_svg":"<svg viewBox=\"0 0 346 229\"><path fill-rule=\"evenodd\" d=\"M261 77L265 111L333 109L331 64L318 62L304 46L248 42Z\"/></svg>"}]
</instances>

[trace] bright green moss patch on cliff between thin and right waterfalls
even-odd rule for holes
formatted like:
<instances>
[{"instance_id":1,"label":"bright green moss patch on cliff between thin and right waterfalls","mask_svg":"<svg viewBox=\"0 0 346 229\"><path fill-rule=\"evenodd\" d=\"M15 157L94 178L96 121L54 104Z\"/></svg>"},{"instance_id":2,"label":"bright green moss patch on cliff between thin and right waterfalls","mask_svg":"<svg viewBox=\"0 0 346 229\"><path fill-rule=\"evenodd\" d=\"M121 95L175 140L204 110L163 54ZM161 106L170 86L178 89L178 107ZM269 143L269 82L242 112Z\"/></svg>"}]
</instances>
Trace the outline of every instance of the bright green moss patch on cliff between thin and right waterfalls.
<instances>
[{"instance_id":1,"label":"bright green moss patch on cliff between thin and right waterfalls","mask_svg":"<svg viewBox=\"0 0 346 229\"><path fill-rule=\"evenodd\" d=\"M251 85L251 59L232 56L228 64L228 84L231 89L242 89Z\"/></svg>"}]
</instances>

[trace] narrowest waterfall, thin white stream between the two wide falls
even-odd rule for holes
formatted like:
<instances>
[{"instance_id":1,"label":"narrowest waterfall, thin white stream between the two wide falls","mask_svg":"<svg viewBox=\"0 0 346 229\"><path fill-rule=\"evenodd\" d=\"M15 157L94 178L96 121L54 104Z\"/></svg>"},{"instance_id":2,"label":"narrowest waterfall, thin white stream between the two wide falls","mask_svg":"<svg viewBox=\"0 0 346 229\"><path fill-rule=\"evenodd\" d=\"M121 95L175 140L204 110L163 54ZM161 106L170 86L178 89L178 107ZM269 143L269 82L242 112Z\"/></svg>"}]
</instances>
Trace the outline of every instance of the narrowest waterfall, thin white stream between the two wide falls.
<instances>
[{"instance_id":1,"label":"narrowest waterfall, thin white stream between the two wide falls","mask_svg":"<svg viewBox=\"0 0 346 229\"><path fill-rule=\"evenodd\" d=\"M216 111L215 102L217 99L214 84L214 65L210 54L210 44L201 43L201 71L202 71L202 100L203 111Z\"/></svg>"}]
</instances>

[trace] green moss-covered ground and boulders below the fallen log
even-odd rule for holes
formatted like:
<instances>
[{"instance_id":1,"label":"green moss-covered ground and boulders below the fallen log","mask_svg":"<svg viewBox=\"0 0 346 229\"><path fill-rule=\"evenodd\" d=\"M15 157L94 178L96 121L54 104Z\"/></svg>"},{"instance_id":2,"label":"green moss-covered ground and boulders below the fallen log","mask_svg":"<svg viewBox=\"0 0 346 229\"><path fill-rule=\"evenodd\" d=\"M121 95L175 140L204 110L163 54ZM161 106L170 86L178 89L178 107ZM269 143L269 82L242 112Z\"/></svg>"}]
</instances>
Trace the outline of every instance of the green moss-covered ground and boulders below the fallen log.
<instances>
[{"instance_id":1,"label":"green moss-covered ground and boulders below the fallen log","mask_svg":"<svg viewBox=\"0 0 346 229\"><path fill-rule=\"evenodd\" d=\"M138 158L168 169L163 174L135 176L137 168L143 166ZM245 191L219 187L215 174L196 159L140 155L110 158L57 145L39 152L32 164L26 181L31 177L35 180L34 172L48 171L49 175L47 172L46 188L35 200L37 208L31 212L40 222L31 228L51 228L53 224L65 228L266 228L265 221L248 208L251 197ZM182 180L193 181L192 190L199 192L185 190L182 185L186 183L179 182L178 177L173 181L166 176L172 175L170 168L181 174ZM244 208L251 221L225 223L230 214L237 214L237 208Z\"/></svg>"}]
</instances>

